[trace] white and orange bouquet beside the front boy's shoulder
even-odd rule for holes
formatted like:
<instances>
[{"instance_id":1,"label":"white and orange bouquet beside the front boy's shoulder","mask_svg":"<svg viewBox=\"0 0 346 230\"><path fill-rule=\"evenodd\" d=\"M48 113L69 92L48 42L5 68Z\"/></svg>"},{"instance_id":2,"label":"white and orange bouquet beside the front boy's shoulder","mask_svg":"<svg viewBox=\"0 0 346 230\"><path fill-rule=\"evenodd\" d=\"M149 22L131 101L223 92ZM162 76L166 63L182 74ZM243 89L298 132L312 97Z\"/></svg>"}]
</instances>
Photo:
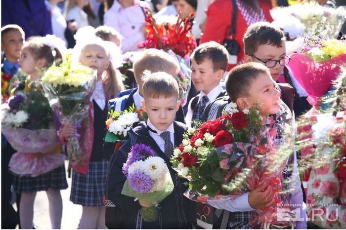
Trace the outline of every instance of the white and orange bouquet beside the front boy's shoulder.
<instances>
[{"instance_id":1,"label":"white and orange bouquet beside the front boy's shoulder","mask_svg":"<svg viewBox=\"0 0 346 230\"><path fill-rule=\"evenodd\" d=\"M116 112L111 109L108 113L109 118L106 120L107 133L104 141L116 142L118 140L126 140L128 131L134 122L148 119L145 113L139 117L140 112L141 110L136 110L134 105L123 112Z\"/></svg>"}]
</instances>

